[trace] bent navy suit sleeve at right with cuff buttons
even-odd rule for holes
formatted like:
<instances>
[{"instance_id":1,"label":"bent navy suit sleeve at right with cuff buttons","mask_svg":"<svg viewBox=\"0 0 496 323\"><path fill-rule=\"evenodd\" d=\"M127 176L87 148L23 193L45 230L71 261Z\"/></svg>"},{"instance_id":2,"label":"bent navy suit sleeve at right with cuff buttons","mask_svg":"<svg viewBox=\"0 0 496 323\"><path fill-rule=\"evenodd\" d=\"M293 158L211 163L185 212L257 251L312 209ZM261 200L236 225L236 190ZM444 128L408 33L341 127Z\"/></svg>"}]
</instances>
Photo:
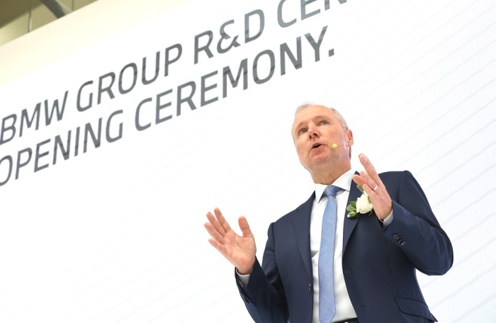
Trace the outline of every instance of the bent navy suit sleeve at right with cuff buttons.
<instances>
[{"instance_id":1,"label":"bent navy suit sleeve at right with cuff buttons","mask_svg":"<svg viewBox=\"0 0 496 323\"><path fill-rule=\"evenodd\" d=\"M409 171L402 172L398 187L398 192L390 192L394 219L384 229L385 237L400 246L417 270L427 275L443 275L453 265L448 235Z\"/></svg>"}]
</instances>

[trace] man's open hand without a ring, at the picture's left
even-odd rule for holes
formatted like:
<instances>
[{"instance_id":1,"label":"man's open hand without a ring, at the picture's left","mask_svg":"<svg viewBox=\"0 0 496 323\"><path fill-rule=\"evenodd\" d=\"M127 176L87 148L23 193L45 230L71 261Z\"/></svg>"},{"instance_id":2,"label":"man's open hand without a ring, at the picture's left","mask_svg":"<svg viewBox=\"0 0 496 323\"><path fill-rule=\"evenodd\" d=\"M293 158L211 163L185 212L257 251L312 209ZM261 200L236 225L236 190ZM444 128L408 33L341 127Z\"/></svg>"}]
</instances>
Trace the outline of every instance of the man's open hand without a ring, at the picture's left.
<instances>
[{"instance_id":1,"label":"man's open hand without a ring, at the picture's left","mask_svg":"<svg viewBox=\"0 0 496 323\"><path fill-rule=\"evenodd\" d=\"M252 273L257 246L247 219L239 217L239 228L243 232L243 236L240 237L232 231L218 208L214 209L214 213L215 216L208 212L207 218L210 223L205 222L205 229L212 237L208 242L236 266L239 274Z\"/></svg>"}]
</instances>

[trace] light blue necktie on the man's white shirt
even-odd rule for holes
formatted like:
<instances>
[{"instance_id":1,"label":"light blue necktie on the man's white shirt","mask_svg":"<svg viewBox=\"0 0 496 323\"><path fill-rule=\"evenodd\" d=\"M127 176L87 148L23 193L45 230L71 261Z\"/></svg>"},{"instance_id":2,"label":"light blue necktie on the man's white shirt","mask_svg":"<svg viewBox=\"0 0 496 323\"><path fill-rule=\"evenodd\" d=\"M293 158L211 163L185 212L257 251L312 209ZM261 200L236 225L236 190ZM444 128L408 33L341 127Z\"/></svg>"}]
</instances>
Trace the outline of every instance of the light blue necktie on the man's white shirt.
<instances>
[{"instance_id":1,"label":"light blue necktie on the man's white shirt","mask_svg":"<svg viewBox=\"0 0 496 323\"><path fill-rule=\"evenodd\" d=\"M334 302L334 236L336 234L336 193L342 189L327 186L327 205L322 219L322 238L319 251L319 320L321 323L331 322L336 314Z\"/></svg>"}]
</instances>

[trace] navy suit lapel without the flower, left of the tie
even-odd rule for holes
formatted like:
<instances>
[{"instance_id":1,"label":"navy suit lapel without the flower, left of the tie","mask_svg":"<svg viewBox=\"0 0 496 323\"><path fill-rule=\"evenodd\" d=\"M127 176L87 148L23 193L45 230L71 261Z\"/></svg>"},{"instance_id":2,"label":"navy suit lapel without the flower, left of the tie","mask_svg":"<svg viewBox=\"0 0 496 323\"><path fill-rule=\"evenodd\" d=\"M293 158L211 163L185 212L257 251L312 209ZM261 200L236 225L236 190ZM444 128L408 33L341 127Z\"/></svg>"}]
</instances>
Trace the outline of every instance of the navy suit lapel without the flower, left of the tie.
<instances>
[{"instance_id":1,"label":"navy suit lapel without the flower, left of the tie","mask_svg":"<svg viewBox=\"0 0 496 323\"><path fill-rule=\"evenodd\" d=\"M312 255L310 254L310 215L315 192L310 198L295 210L293 215L293 226L295 229L296 242L300 249L301 258L305 263L308 275L312 277Z\"/></svg>"}]
</instances>

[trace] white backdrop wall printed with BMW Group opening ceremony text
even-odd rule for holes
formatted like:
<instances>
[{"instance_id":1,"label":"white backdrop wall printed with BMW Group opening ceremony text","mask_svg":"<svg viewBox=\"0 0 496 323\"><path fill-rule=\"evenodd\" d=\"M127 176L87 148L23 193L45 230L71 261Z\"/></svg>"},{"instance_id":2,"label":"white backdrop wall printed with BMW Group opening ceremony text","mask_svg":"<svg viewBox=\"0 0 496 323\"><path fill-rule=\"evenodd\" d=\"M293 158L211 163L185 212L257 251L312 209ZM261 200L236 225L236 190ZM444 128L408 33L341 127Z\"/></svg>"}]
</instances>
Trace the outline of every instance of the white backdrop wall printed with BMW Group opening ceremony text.
<instances>
[{"instance_id":1,"label":"white backdrop wall printed with BMW Group opening ceremony text","mask_svg":"<svg viewBox=\"0 0 496 323\"><path fill-rule=\"evenodd\" d=\"M439 322L495 317L496 4L322 0L302 20L288 0L284 28L279 5L191 0L0 87L0 322L251 322L205 213L245 215L261 258L312 193L290 135L309 100L342 111L355 169L364 152L424 188L455 254L418 275Z\"/></svg>"}]
</instances>

